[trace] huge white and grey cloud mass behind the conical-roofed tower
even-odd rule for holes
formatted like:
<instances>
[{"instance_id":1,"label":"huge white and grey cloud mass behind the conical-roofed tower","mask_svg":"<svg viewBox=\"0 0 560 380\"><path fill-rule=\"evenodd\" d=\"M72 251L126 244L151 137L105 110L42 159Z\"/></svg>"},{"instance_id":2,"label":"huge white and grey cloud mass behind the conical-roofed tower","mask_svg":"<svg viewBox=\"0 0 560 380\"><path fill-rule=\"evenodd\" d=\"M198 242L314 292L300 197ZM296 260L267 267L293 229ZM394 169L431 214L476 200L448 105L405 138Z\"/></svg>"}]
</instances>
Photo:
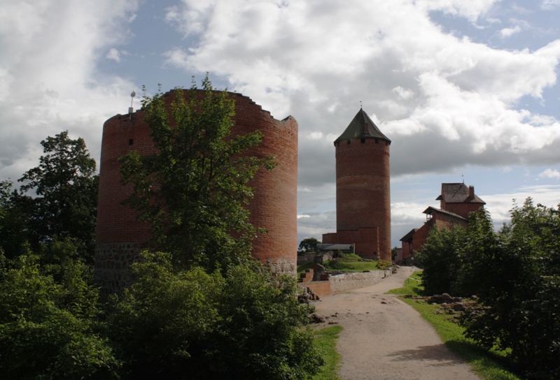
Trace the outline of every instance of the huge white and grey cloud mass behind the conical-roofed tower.
<instances>
[{"instance_id":1,"label":"huge white and grey cloud mass behind the conical-roofed tower","mask_svg":"<svg viewBox=\"0 0 560 380\"><path fill-rule=\"evenodd\" d=\"M360 101L393 140L393 175L558 161L560 123L517 103L556 83L560 40L499 50L430 21L442 10L475 22L496 2L183 0L168 20L198 43L167 63L228 78L273 115L295 116L300 161L317 164L300 173L304 186L332 180L332 140Z\"/></svg>"}]
</instances>

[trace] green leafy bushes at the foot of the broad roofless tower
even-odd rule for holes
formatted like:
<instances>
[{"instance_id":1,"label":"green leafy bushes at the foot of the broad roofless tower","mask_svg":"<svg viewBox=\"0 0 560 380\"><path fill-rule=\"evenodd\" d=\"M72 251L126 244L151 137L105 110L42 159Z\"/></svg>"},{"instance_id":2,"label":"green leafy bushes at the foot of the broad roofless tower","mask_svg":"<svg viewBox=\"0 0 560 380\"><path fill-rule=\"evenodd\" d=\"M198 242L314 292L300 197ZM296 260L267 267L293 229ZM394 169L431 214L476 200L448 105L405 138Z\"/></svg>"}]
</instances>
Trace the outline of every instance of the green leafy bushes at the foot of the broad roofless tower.
<instances>
[{"instance_id":1,"label":"green leafy bushes at the foot of the broad roofless tower","mask_svg":"<svg viewBox=\"0 0 560 380\"><path fill-rule=\"evenodd\" d=\"M304 379L321 365L293 279L274 286L246 266L209 275L176 271L167 254L144 259L109 319L127 378Z\"/></svg>"}]
</instances>

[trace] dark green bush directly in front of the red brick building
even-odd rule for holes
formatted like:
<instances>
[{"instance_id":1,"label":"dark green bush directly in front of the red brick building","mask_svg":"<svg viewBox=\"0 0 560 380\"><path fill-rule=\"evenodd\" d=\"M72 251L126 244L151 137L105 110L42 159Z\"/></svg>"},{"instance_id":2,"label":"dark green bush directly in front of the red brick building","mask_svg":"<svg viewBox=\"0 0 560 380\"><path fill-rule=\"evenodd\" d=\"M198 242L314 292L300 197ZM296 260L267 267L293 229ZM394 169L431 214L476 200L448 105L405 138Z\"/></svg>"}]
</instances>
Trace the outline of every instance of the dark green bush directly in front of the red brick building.
<instances>
[{"instance_id":1,"label":"dark green bush directly in front of the red brick building","mask_svg":"<svg viewBox=\"0 0 560 380\"><path fill-rule=\"evenodd\" d=\"M422 284L427 294L455 293L461 270L459 252L465 244L465 228L430 230L426 244L416 253L423 268Z\"/></svg>"}]
</instances>

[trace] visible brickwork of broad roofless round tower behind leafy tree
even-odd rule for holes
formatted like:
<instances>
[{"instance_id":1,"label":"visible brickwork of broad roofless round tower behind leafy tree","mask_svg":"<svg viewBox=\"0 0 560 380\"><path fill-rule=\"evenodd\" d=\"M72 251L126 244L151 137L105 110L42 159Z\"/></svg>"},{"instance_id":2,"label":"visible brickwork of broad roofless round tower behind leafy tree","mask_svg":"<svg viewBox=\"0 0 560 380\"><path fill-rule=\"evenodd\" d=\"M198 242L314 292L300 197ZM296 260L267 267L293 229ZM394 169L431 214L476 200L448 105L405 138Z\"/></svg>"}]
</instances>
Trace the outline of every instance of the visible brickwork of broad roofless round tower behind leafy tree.
<instances>
[{"instance_id":1,"label":"visible brickwork of broad roofless round tower behind leafy tree","mask_svg":"<svg viewBox=\"0 0 560 380\"><path fill-rule=\"evenodd\" d=\"M202 90L199 92L202 96ZM188 96L188 94L186 94ZM235 122L232 135L260 130L258 147L248 151L251 156L276 158L273 170L258 170L250 182L255 189L248 206L249 220L268 233L253 241L253 257L269 265L272 272L293 273L297 247L297 122L293 117L276 120L251 98L229 93L235 99ZM165 103L174 99L174 92L165 94ZM130 285L130 264L137 261L143 244L149 239L149 226L136 220L136 213L120 205L131 187L120 183L118 158L129 150L140 154L155 152L144 112L116 115L103 126L102 154L99 165L99 200L94 277L105 293L120 291Z\"/></svg>"}]
</instances>

